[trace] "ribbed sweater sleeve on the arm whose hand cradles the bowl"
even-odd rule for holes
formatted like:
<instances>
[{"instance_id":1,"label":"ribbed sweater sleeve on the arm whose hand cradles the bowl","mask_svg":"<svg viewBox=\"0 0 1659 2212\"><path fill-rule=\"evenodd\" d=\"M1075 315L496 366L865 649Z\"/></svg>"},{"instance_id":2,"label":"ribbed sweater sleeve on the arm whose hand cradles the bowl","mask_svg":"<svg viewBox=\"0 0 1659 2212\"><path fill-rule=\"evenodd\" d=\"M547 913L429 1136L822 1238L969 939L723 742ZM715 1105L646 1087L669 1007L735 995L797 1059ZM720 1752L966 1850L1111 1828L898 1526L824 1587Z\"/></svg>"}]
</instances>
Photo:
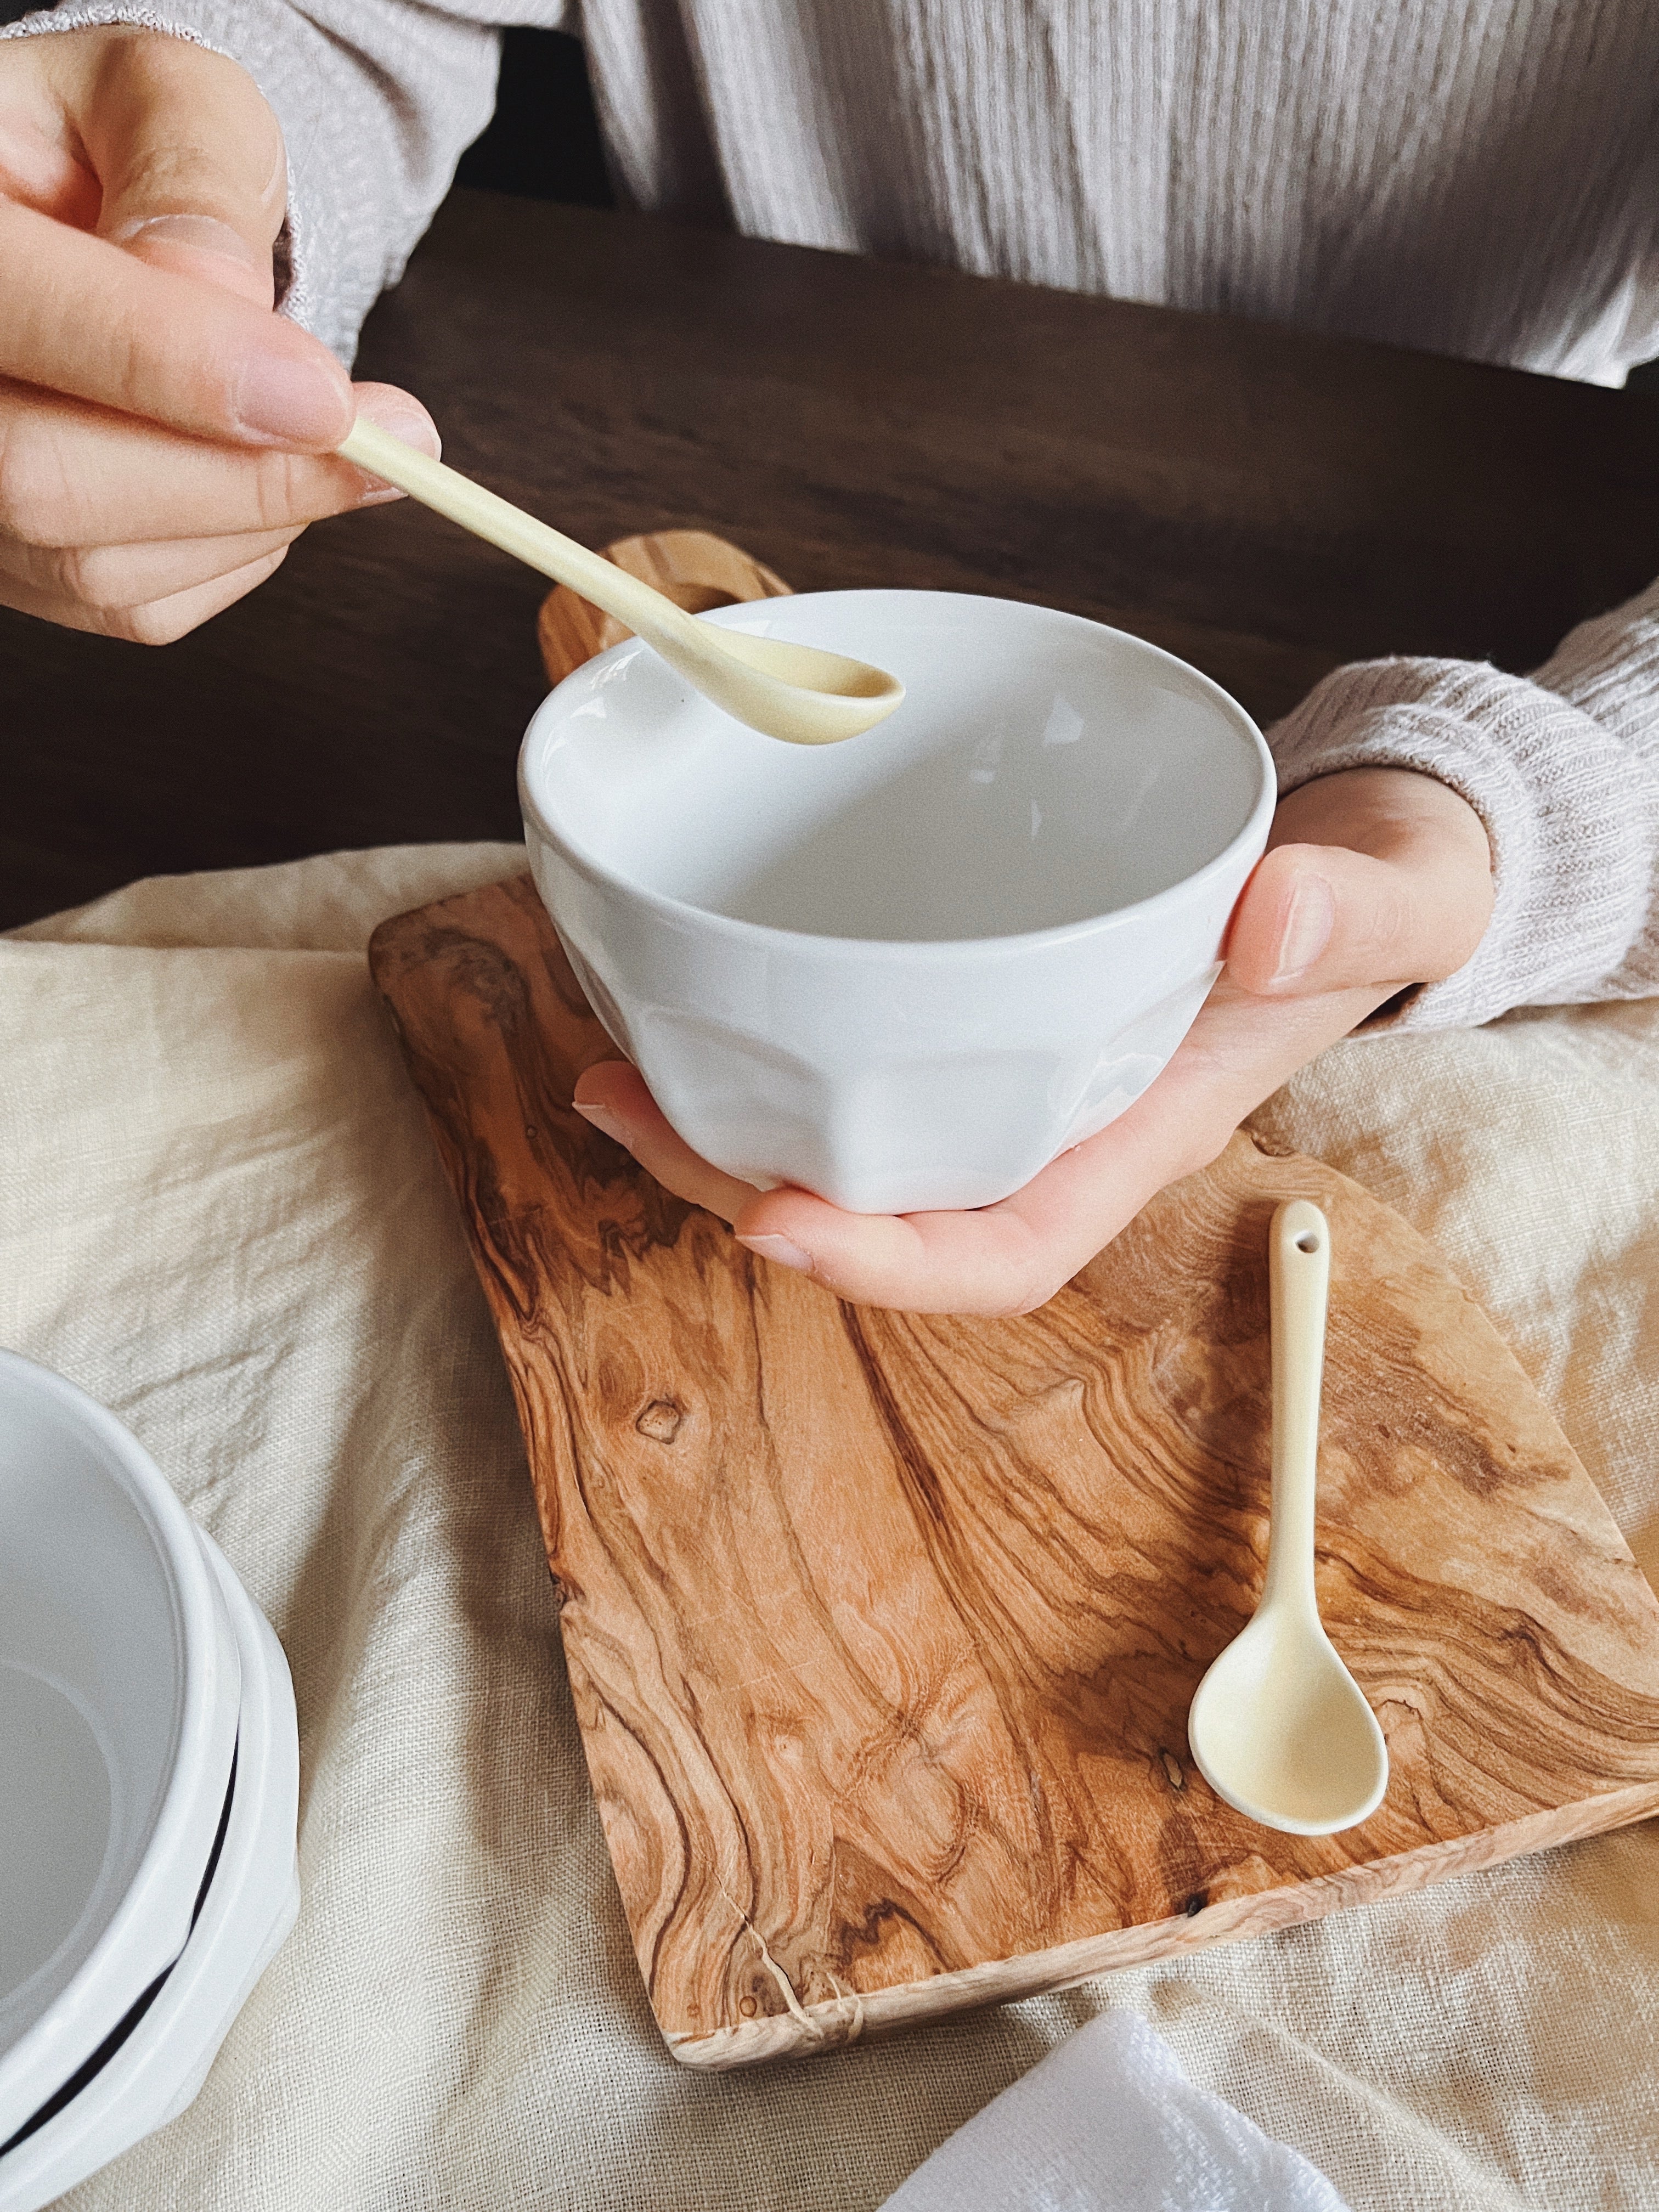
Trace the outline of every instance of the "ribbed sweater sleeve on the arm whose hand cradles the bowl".
<instances>
[{"instance_id":1,"label":"ribbed sweater sleeve on the arm whose hand cradles the bowl","mask_svg":"<svg viewBox=\"0 0 1659 2212\"><path fill-rule=\"evenodd\" d=\"M1338 668L1267 743L1281 796L1343 768L1413 768L1486 825L1498 896L1473 960L1378 1026L1659 995L1659 584L1582 622L1531 677Z\"/></svg>"}]
</instances>

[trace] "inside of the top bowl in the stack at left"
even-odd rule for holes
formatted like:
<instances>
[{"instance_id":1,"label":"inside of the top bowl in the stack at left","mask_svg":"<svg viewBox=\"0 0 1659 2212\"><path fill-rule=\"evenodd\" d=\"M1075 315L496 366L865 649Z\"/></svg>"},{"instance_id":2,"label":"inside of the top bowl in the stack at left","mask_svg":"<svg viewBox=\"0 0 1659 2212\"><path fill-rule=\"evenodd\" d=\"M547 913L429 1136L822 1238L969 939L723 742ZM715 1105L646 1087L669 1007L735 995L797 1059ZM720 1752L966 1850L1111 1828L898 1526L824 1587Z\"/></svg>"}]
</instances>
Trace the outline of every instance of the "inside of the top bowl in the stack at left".
<instances>
[{"instance_id":1,"label":"inside of the top bowl in the stack at left","mask_svg":"<svg viewBox=\"0 0 1659 2212\"><path fill-rule=\"evenodd\" d=\"M184 1630L115 1447L0 1369L0 2055L144 1858L184 1714Z\"/></svg>"}]
</instances>

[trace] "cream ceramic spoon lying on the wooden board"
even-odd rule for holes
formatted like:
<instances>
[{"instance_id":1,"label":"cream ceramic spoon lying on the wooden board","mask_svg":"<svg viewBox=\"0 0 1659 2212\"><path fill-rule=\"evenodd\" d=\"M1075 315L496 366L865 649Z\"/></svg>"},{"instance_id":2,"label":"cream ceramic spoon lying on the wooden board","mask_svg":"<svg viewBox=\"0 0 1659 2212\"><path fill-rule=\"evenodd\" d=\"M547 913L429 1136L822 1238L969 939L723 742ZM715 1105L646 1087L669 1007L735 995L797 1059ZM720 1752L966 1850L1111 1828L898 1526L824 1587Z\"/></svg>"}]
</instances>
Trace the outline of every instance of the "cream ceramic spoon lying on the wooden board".
<instances>
[{"instance_id":1,"label":"cream ceramic spoon lying on the wooden board","mask_svg":"<svg viewBox=\"0 0 1659 2212\"><path fill-rule=\"evenodd\" d=\"M1318 1387L1332 1232L1307 1199L1267 1232L1274 1473L1267 1577L1248 1628L1199 1683L1186 1741L1199 1774L1239 1812L1292 1836L1356 1827L1383 1803L1389 1750L1332 1648L1314 1599Z\"/></svg>"}]
</instances>

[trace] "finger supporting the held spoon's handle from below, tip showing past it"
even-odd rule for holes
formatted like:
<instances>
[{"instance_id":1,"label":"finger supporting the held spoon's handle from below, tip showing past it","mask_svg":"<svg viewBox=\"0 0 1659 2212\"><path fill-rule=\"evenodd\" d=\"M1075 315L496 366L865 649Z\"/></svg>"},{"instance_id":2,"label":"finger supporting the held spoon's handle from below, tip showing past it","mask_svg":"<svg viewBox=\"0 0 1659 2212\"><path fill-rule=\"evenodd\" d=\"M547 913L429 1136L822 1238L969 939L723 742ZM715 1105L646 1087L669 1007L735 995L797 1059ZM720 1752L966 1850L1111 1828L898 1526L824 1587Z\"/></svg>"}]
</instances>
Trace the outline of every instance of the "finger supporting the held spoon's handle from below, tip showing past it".
<instances>
[{"instance_id":1,"label":"finger supporting the held spoon's handle from below, tip showing past it","mask_svg":"<svg viewBox=\"0 0 1659 2212\"><path fill-rule=\"evenodd\" d=\"M438 431L396 385L363 414L427 453ZM0 538L29 546L144 544L301 529L387 491L345 460L210 445L155 422L0 383Z\"/></svg>"}]
</instances>

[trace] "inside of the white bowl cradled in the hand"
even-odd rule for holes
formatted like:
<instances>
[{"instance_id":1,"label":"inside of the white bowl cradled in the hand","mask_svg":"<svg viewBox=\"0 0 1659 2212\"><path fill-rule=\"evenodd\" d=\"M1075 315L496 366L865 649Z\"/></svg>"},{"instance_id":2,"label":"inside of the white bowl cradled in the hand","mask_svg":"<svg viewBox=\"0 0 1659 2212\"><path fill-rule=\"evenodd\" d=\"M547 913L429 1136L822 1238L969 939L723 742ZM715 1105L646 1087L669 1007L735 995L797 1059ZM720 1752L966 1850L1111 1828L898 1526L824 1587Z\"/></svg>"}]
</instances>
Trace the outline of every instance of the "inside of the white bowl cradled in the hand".
<instances>
[{"instance_id":1,"label":"inside of the white bowl cradled in the hand","mask_svg":"<svg viewBox=\"0 0 1659 2212\"><path fill-rule=\"evenodd\" d=\"M1261 803L1250 717L1075 615L845 591L706 617L854 653L907 686L841 745L783 745L622 644L546 701L524 787L628 885L772 929L956 940L1082 922L1219 858Z\"/></svg>"}]
</instances>

